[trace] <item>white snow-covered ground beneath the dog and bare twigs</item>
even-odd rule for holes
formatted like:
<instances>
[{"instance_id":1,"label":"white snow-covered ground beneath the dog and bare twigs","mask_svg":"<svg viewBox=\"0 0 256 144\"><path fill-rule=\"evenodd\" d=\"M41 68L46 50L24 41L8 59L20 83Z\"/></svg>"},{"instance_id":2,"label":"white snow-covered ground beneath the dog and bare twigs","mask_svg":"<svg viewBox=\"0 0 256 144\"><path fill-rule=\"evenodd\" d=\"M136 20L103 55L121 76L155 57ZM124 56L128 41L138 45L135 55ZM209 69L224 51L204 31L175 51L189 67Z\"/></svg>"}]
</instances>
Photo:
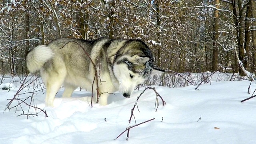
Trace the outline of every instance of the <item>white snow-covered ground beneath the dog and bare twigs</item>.
<instances>
[{"instance_id":1,"label":"white snow-covered ground beneath the dog and bare twigs","mask_svg":"<svg viewBox=\"0 0 256 144\"><path fill-rule=\"evenodd\" d=\"M44 89L40 81L34 83L34 91ZM93 144L93 143L152 143L152 144L255 144L256 143L256 98L241 103L252 95L255 82L222 81L199 86L182 88L155 87L166 101L166 105L154 109L156 94L146 90L138 100L138 109L134 109L136 124L155 118L130 129L126 141L125 132L114 140L131 124L128 120L131 109L145 87L135 90L131 98L120 93L110 96L107 106L85 101L90 93L77 89L72 98L61 98L63 89L56 95L54 108L45 107L45 89L34 92L33 106L46 110L38 116L18 116L28 113L28 106L5 110L6 105L20 88L19 78L5 78L0 85L0 143L1 144ZM2 87L12 87L2 90ZM42 86L42 88L40 87ZM17 98L31 96L32 84L24 88ZM22 94L28 93L28 94ZM256 94L256 93L255 93ZM254 94L254 95L255 95ZM24 100L24 99L22 99ZM159 99L161 102L161 100ZM26 100L30 103L30 98ZM14 100L10 107L18 104ZM16 111L16 113L15 113ZM35 114L30 107L29 114ZM201 119L199 120L199 118Z\"/></svg>"}]
</instances>

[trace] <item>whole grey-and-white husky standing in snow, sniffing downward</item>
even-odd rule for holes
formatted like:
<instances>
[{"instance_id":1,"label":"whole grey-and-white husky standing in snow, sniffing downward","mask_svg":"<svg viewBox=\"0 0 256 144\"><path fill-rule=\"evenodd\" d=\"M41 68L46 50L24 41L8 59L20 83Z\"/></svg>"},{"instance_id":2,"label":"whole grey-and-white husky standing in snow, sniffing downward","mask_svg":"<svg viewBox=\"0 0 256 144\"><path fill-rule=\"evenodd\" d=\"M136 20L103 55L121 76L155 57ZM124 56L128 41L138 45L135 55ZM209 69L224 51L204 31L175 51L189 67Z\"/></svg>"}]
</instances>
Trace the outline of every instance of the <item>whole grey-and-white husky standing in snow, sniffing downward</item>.
<instances>
[{"instance_id":1,"label":"whole grey-and-white husky standing in snow, sniffing downward","mask_svg":"<svg viewBox=\"0 0 256 144\"><path fill-rule=\"evenodd\" d=\"M31 73L40 70L46 85L46 106L53 106L62 85L62 97L70 97L78 87L91 91L93 86L97 100L96 70L100 105L108 104L108 95L116 91L130 98L136 85L164 72L154 66L152 51L141 40L108 38L52 40L28 52L26 65Z\"/></svg>"}]
</instances>

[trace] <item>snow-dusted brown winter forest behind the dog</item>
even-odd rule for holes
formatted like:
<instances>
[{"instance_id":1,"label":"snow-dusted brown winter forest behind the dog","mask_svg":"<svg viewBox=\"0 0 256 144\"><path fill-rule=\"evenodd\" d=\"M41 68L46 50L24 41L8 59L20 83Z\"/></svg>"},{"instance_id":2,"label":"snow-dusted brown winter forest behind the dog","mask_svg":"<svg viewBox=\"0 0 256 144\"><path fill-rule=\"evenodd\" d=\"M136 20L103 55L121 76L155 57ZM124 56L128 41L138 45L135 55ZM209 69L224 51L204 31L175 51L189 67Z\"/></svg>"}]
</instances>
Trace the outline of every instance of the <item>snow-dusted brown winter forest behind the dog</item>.
<instances>
[{"instance_id":1,"label":"snow-dusted brown winter forest behind the dog","mask_svg":"<svg viewBox=\"0 0 256 144\"><path fill-rule=\"evenodd\" d=\"M56 38L141 39L174 72L256 72L255 0L0 0L0 74Z\"/></svg>"}]
</instances>

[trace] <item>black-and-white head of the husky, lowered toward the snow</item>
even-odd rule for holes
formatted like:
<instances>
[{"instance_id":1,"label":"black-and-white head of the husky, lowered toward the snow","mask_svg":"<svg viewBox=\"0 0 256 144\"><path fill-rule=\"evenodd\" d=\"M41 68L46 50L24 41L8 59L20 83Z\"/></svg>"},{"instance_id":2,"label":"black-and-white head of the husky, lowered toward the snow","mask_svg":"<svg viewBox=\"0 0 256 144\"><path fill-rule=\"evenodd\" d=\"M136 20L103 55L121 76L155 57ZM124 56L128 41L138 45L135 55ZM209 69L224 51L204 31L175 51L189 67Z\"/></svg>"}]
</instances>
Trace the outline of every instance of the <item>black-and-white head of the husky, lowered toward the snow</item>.
<instances>
[{"instance_id":1,"label":"black-and-white head of the husky, lowered toward the snow","mask_svg":"<svg viewBox=\"0 0 256 144\"><path fill-rule=\"evenodd\" d=\"M128 41L117 53L113 72L119 82L119 91L130 98L135 86L164 70L154 66L154 57L141 40Z\"/></svg>"}]
</instances>

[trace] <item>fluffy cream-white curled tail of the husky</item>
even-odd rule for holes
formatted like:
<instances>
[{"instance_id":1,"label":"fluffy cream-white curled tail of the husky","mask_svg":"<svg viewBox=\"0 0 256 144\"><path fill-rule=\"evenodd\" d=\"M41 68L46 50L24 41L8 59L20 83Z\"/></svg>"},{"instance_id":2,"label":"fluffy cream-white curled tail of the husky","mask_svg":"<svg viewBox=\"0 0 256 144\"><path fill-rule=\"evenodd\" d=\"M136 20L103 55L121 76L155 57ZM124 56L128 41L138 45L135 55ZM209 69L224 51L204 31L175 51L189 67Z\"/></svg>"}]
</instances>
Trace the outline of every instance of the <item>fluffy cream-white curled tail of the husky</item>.
<instances>
[{"instance_id":1,"label":"fluffy cream-white curled tail of the husky","mask_svg":"<svg viewBox=\"0 0 256 144\"><path fill-rule=\"evenodd\" d=\"M45 46L37 46L30 52L28 52L26 56L26 65L29 72L34 73L40 70L44 63L50 60L53 57L54 53L52 50Z\"/></svg>"}]
</instances>

